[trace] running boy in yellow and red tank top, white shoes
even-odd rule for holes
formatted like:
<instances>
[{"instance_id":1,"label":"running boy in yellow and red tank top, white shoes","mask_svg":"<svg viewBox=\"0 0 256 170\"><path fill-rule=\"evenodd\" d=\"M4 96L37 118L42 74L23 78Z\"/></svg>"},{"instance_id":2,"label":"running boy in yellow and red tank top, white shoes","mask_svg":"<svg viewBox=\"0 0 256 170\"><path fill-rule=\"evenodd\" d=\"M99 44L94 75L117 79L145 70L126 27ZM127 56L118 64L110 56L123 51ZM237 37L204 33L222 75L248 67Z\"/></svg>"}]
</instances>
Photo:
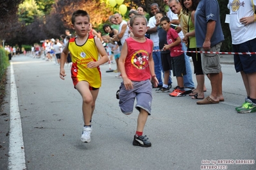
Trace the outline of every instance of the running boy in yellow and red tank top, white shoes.
<instances>
[{"instance_id":1,"label":"running boy in yellow and red tank top, white shoes","mask_svg":"<svg viewBox=\"0 0 256 170\"><path fill-rule=\"evenodd\" d=\"M60 58L60 79L64 80L64 64L67 54L72 54L71 77L74 88L78 90L82 99L83 133L81 141L90 142L92 132L91 120L101 86L101 72L99 65L108 61L107 53L97 37L89 35L90 17L87 12L77 10L71 17L72 28L76 31L76 37L71 38L62 51ZM101 58L98 60L98 53Z\"/></svg>"}]
</instances>

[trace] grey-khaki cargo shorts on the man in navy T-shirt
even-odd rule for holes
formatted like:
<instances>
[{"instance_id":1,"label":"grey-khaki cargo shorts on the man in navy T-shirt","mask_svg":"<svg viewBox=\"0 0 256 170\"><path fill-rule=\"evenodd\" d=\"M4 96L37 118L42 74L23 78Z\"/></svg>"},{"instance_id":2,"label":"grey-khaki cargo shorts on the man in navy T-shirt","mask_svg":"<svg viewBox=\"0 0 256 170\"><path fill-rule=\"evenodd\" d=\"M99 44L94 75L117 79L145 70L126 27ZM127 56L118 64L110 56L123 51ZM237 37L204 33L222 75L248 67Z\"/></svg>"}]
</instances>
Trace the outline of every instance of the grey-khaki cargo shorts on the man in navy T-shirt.
<instances>
[{"instance_id":1,"label":"grey-khaki cargo shorts on the man in navy T-shirt","mask_svg":"<svg viewBox=\"0 0 256 170\"><path fill-rule=\"evenodd\" d=\"M204 50L204 49L200 48L200 50ZM220 50L221 50L221 42L217 43L216 45L210 48L210 51L212 52L219 52ZM201 55L201 63L202 63L203 73L205 74L221 72L221 62L219 59L219 54L203 53Z\"/></svg>"}]
</instances>

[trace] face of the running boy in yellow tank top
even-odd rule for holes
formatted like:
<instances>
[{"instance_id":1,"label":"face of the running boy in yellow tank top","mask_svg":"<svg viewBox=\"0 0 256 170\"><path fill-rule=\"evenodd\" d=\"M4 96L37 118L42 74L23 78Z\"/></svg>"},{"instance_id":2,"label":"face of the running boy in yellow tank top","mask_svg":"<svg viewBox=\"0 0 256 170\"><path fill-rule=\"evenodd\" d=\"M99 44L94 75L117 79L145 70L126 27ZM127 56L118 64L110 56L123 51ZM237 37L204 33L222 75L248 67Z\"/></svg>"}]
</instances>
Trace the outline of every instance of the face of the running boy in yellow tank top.
<instances>
[{"instance_id":1,"label":"face of the running boy in yellow tank top","mask_svg":"<svg viewBox=\"0 0 256 170\"><path fill-rule=\"evenodd\" d=\"M89 18L87 16L78 16L74 20L72 28L76 31L78 36L85 36L88 33L90 27Z\"/></svg>"}]
</instances>

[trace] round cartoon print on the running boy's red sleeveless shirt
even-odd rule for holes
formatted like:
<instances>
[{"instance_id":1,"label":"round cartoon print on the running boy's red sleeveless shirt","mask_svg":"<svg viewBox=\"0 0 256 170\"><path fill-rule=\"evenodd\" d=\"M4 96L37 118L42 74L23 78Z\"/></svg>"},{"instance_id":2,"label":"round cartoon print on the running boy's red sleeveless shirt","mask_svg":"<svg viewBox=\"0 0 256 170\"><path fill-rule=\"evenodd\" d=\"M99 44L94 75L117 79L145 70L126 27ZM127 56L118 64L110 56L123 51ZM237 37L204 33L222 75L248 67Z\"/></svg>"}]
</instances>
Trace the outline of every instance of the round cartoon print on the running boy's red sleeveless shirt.
<instances>
[{"instance_id":1,"label":"round cartoon print on the running boy's red sleeveless shirt","mask_svg":"<svg viewBox=\"0 0 256 170\"><path fill-rule=\"evenodd\" d=\"M138 50L132 56L132 65L143 70L148 66L148 52L146 50Z\"/></svg>"}]
</instances>

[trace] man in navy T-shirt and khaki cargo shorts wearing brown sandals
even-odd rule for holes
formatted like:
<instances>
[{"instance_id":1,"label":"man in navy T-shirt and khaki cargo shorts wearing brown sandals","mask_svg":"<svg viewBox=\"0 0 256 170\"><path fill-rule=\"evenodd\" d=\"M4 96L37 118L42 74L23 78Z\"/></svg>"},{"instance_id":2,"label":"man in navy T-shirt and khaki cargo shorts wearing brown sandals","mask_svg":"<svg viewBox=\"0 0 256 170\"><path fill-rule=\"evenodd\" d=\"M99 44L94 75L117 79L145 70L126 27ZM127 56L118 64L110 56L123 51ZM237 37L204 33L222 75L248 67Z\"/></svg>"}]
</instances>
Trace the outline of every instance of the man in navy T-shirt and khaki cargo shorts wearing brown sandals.
<instances>
[{"instance_id":1,"label":"man in navy T-shirt and khaki cargo shorts wearing brown sandals","mask_svg":"<svg viewBox=\"0 0 256 170\"><path fill-rule=\"evenodd\" d=\"M219 3L217 0L201 0L194 14L196 46L202 51L219 52L224 40L219 19ZM218 104L223 102L222 72L219 54L201 56L203 73L210 79L212 91L210 96L199 100L197 104Z\"/></svg>"}]
</instances>

